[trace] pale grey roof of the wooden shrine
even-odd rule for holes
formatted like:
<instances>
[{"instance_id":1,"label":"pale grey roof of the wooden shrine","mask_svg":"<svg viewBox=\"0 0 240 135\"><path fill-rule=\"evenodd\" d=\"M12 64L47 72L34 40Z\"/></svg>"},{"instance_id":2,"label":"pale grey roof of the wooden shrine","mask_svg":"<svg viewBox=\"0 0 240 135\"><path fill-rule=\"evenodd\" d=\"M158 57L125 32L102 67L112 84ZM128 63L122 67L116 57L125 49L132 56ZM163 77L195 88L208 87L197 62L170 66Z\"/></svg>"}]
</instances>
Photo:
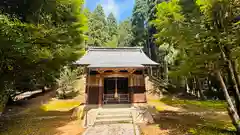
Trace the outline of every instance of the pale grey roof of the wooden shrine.
<instances>
[{"instance_id":1,"label":"pale grey roof of the wooden shrine","mask_svg":"<svg viewBox=\"0 0 240 135\"><path fill-rule=\"evenodd\" d=\"M145 55L141 47L89 47L87 53L77 60L75 64L89 65L89 67L158 65L158 63Z\"/></svg>"}]
</instances>

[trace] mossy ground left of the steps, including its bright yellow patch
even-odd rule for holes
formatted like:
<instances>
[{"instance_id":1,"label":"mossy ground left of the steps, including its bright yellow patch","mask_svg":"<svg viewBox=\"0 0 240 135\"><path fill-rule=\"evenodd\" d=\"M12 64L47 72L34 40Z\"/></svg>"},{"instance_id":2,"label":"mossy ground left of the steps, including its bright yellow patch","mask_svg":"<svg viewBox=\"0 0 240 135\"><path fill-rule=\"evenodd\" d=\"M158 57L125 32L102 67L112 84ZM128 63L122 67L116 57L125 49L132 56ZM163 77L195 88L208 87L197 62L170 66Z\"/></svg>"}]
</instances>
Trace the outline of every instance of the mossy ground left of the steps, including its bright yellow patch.
<instances>
[{"instance_id":1,"label":"mossy ground left of the steps, including its bright yellow patch","mask_svg":"<svg viewBox=\"0 0 240 135\"><path fill-rule=\"evenodd\" d=\"M25 109L20 115L0 119L1 135L54 135L59 128L65 127L76 119L72 118L72 109L79 106L78 101L54 100L42 106ZM53 117L52 117L53 116ZM80 123L80 121L79 121ZM78 127L79 126L79 127ZM80 124L78 132L83 131ZM75 127L75 128L76 128ZM70 126L71 129L71 126ZM68 131L65 131L68 132Z\"/></svg>"}]
</instances>

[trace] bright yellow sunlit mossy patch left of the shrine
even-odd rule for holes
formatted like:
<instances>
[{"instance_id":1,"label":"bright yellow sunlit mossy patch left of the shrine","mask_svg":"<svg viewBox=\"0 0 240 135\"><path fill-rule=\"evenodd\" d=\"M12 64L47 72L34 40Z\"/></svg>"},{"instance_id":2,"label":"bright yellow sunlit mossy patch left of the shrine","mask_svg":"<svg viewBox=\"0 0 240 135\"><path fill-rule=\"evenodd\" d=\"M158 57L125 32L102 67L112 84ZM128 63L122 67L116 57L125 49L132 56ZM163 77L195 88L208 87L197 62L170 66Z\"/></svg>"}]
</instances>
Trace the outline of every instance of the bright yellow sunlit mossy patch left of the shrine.
<instances>
[{"instance_id":1,"label":"bright yellow sunlit mossy patch left of the shrine","mask_svg":"<svg viewBox=\"0 0 240 135\"><path fill-rule=\"evenodd\" d=\"M44 111L70 111L79 106L81 103L75 100L52 100L47 104L43 104L41 109Z\"/></svg>"}]
</instances>

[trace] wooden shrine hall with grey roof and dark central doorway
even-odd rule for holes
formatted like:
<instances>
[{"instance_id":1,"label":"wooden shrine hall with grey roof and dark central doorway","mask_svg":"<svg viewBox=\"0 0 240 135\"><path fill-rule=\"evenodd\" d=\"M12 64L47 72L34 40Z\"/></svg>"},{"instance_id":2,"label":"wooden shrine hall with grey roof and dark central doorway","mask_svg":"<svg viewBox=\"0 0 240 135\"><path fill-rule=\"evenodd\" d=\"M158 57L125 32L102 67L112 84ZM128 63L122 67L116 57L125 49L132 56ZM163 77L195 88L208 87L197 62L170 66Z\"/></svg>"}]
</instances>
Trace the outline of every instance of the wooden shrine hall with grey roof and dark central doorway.
<instances>
[{"instance_id":1,"label":"wooden shrine hall with grey roof and dark central doorway","mask_svg":"<svg viewBox=\"0 0 240 135\"><path fill-rule=\"evenodd\" d=\"M158 65L140 47L89 47L76 61L86 67L86 104L145 103L144 71Z\"/></svg>"}]
</instances>

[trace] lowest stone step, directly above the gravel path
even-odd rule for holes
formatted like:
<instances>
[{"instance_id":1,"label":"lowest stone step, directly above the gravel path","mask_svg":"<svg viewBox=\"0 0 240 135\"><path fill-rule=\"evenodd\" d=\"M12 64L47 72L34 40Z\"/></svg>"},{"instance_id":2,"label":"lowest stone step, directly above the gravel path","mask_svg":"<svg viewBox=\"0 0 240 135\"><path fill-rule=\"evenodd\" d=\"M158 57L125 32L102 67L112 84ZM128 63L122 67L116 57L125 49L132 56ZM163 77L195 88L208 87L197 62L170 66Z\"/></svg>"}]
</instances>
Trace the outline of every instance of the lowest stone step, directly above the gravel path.
<instances>
[{"instance_id":1,"label":"lowest stone step, directly above the gravel path","mask_svg":"<svg viewBox=\"0 0 240 135\"><path fill-rule=\"evenodd\" d=\"M97 119L94 125L117 124L117 123L132 123L132 118Z\"/></svg>"}]
</instances>

